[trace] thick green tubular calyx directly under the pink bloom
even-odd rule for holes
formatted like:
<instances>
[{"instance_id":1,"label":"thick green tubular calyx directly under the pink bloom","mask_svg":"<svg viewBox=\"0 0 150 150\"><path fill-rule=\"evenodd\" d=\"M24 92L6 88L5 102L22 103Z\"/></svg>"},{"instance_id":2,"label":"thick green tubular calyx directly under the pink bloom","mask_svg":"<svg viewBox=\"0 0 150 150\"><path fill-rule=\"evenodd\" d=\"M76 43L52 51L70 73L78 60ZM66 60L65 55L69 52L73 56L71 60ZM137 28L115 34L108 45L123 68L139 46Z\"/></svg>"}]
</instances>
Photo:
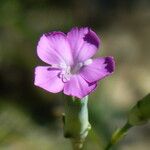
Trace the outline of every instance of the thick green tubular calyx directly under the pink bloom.
<instances>
[{"instance_id":1,"label":"thick green tubular calyx directly under the pink bloom","mask_svg":"<svg viewBox=\"0 0 150 150\"><path fill-rule=\"evenodd\" d=\"M88 96L83 99L65 98L64 136L70 138L73 149L82 149L90 124L88 120Z\"/></svg>"}]
</instances>

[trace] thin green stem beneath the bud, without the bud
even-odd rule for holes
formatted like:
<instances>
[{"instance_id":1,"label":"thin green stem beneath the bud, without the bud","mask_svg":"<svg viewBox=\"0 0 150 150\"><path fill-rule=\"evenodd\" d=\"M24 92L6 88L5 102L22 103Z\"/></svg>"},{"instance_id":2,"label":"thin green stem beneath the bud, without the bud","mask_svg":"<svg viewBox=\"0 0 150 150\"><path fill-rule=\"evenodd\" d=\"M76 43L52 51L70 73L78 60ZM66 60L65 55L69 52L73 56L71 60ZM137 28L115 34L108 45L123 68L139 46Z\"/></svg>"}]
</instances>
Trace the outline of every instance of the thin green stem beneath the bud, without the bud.
<instances>
[{"instance_id":1,"label":"thin green stem beneath the bud, without the bud","mask_svg":"<svg viewBox=\"0 0 150 150\"><path fill-rule=\"evenodd\" d=\"M124 138L128 132L128 130L132 127L128 122L120 129L117 129L111 137L110 142L106 146L105 150L109 150L113 145L118 143L122 138Z\"/></svg>"}]
</instances>

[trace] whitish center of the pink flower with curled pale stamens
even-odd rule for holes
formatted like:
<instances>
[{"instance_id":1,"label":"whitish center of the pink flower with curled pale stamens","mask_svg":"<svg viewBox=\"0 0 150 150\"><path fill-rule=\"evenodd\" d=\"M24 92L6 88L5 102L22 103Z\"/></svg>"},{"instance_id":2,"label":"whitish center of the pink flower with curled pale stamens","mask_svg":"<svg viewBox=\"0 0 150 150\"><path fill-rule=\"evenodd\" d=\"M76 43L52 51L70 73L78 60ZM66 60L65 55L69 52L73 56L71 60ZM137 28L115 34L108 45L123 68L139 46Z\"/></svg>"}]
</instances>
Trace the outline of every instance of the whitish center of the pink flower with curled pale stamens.
<instances>
[{"instance_id":1,"label":"whitish center of the pink flower with curled pale stamens","mask_svg":"<svg viewBox=\"0 0 150 150\"><path fill-rule=\"evenodd\" d=\"M92 59L88 59L84 62L77 63L73 66L60 64L59 66L60 66L61 72L59 74L59 77L62 79L63 82L67 82L70 80L72 75L78 74L80 69L83 66L89 65L91 63L92 63Z\"/></svg>"}]
</instances>

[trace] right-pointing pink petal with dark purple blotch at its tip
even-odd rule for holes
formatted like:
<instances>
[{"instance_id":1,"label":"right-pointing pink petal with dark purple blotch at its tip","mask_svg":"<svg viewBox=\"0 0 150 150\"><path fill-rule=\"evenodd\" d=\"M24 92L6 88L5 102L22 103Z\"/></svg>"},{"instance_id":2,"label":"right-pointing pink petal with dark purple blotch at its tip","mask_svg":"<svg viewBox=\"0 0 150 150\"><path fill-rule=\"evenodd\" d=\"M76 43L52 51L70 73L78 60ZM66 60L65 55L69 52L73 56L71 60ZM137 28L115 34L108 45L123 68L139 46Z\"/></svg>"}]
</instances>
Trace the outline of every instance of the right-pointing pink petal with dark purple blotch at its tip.
<instances>
[{"instance_id":1,"label":"right-pointing pink petal with dark purple blotch at its tip","mask_svg":"<svg viewBox=\"0 0 150 150\"><path fill-rule=\"evenodd\" d=\"M115 62L113 57L93 59L93 62L80 70L80 75L88 82L98 81L113 73Z\"/></svg>"}]
</instances>

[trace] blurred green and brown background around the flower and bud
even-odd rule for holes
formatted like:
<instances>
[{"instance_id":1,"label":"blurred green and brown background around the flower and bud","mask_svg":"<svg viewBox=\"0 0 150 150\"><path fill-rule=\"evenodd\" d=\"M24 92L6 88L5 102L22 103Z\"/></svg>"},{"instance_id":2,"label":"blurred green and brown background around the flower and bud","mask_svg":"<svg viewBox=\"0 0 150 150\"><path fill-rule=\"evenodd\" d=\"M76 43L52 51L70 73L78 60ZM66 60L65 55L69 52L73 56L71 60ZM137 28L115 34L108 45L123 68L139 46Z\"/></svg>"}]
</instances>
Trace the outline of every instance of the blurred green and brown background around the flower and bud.
<instances>
[{"instance_id":1,"label":"blurred green and brown background around the flower and bud","mask_svg":"<svg viewBox=\"0 0 150 150\"><path fill-rule=\"evenodd\" d=\"M149 0L0 1L0 150L70 150L63 138L61 94L33 85L39 37L90 26L116 71L89 100L92 124L84 150L102 150L128 110L150 91ZM135 127L114 149L149 150L150 126Z\"/></svg>"}]
</instances>

